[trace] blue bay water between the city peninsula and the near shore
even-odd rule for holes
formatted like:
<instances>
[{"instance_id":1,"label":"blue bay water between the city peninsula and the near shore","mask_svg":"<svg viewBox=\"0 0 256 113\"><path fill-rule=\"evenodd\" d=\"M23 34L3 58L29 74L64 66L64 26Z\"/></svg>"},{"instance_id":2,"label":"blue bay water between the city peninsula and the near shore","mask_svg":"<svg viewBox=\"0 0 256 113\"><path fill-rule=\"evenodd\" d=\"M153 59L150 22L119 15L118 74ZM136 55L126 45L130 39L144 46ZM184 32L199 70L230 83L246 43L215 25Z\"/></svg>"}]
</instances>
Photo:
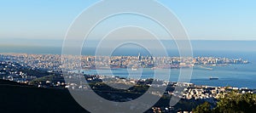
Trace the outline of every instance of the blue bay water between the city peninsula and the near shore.
<instances>
[{"instance_id":1,"label":"blue bay water between the city peninsula and the near shore","mask_svg":"<svg viewBox=\"0 0 256 113\"><path fill-rule=\"evenodd\" d=\"M247 65L227 65L227 66L212 66L213 70L206 70L200 67L195 67L192 76L191 83L196 85L207 86L232 86L237 88L256 88L256 71L252 68L254 64ZM184 71L189 69L183 69ZM96 70L84 71L86 74L98 74ZM177 82L180 70L172 69L170 81ZM101 70L102 75L107 76L121 76L128 77L129 72L126 69L115 69L112 73L104 72ZM209 80L210 76L216 76L218 80ZM153 78L154 70L143 69L141 78Z\"/></svg>"}]
</instances>

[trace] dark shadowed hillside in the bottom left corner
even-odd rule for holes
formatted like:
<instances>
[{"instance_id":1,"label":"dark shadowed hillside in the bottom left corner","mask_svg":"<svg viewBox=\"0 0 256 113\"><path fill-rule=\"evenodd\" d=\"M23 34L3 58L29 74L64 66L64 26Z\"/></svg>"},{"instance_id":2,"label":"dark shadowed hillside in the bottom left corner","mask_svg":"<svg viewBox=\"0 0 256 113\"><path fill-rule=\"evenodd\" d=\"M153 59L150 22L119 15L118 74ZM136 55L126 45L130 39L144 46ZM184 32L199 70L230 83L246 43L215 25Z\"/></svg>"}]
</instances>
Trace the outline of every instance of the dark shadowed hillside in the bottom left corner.
<instances>
[{"instance_id":1,"label":"dark shadowed hillside in the bottom left corner","mask_svg":"<svg viewBox=\"0 0 256 113\"><path fill-rule=\"evenodd\" d=\"M0 112L84 113L67 90L35 88L0 80Z\"/></svg>"}]
</instances>

